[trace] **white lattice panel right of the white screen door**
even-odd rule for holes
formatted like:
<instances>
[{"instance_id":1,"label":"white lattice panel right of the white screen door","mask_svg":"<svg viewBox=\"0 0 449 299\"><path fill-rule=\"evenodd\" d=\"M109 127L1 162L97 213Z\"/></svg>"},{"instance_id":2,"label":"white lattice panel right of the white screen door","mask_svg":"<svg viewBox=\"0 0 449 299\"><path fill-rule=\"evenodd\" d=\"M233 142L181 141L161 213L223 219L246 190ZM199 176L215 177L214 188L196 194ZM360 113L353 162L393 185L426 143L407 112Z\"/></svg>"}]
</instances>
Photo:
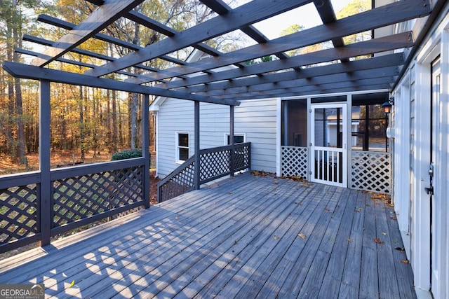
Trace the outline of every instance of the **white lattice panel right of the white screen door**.
<instances>
[{"instance_id":1,"label":"white lattice panel right of the white screen door","mask_svg":"<svg viewBox=\"0 0 449 299\"><path fill-rule=\"evenodd\" d=\"M351 188L376 193L391 193L391 155L352 151Z\"/></svg>"}]
</instances>

